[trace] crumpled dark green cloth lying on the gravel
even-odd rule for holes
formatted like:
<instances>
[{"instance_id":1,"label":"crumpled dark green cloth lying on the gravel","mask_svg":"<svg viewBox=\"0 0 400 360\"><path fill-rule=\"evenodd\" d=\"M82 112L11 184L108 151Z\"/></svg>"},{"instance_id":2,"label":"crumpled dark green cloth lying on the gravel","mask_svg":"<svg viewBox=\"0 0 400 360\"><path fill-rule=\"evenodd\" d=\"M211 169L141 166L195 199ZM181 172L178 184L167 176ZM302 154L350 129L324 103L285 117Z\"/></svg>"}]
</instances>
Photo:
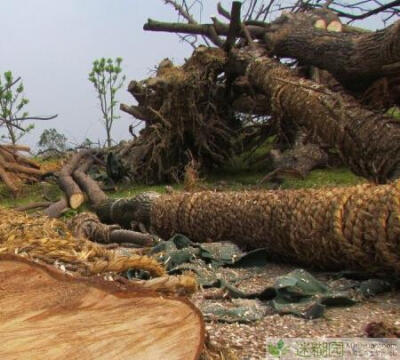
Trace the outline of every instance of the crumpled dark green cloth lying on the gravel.
<instances>
[{"instance_id":1,"label":"crumpled dark green cloth lying on the gravel","mask_svg":"<svg viewBox=\"0 0 400 360\"><path fill-rule=\"evenodd\" d=\"M268 264L266 249L256 249L243 253L230 242L204 243L192 242L186 236L176 234L168 241L161 241L152 248L151 254L165 264L169 274L179 274L192 271L196 274L202 287L224 289L232 299L247 299L247 305L223 306L217 304L205 310L207 314L220 321L255 321L262 311L254 311L254 304L263 301L280 314L292 314L306 319L315 319L324 314L328 306L350 306L356 299L369 297L388 291L393 287L392 281L371 279L363 274L347 288L331 288L316 279L303 269L296 269L287 275L276 279L271 287L256 293L241 291L235 283L243 281L243 277L218 276L221 267L248 268L262 267ZM351 273L351 272L348 272ZM336 273L338 278L346 276L346 272ZM331 277L336 275L331 273ZM130 274L131 277L146 276L146 274ZM253 303L251 303L253 301Z\"/></svg>"}]
</instances>

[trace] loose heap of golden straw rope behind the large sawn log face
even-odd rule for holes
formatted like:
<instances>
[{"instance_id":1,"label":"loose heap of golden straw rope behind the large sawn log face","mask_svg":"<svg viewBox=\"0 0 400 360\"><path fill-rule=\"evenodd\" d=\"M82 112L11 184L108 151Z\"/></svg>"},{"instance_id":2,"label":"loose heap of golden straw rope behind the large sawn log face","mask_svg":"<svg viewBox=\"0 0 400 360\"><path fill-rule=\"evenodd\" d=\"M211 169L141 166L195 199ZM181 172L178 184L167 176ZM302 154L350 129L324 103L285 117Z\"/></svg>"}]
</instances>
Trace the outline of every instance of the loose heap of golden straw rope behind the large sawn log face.
<instances>
[{"instance_id":1,"label":"loose heap of golden straw rope behind the large sawn log face","mask_svg":"<svg viewBox=\"0 0 400 360\"><path fill-rule=\"evenodd\" d=\"M148 256L122 256L83 238L74 238L61 221L32 217L0 208L0 253L12 253L53 264L61 261L81 275L128 269L148 271L153 277L164 268Z\"/></svg>"}]
</instances>

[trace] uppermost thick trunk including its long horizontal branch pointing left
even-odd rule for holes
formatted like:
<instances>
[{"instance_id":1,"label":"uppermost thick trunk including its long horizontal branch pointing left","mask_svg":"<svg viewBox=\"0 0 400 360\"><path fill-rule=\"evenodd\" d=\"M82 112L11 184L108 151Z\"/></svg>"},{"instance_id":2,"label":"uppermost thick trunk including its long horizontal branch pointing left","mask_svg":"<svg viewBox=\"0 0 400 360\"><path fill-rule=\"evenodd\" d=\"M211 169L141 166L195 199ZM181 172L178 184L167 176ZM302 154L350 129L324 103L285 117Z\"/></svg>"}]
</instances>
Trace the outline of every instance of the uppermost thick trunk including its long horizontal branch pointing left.
<instances>
[{"instance_id":1,"label":"uppermost thick trunk including its long horizontal branch pointing left","mask_svg":"<svg viewBox=\"0 0 400 360\"><path fill-rule=\"evenodd\" d=\"M144 25L144 30L205 36L209 36L211 29L217 35L227 36L229 24L181 24L149 19ZM243 29L238 35L246 38ZM337 32L341 27L336 15L314 10L283 14L270 24L252 22L246 29L265 46L269 55L295 58L302 64L328 70L352 90L365 90L377 78L400 73L400 21L377 32Z\"/></svg>"}]
</instances>

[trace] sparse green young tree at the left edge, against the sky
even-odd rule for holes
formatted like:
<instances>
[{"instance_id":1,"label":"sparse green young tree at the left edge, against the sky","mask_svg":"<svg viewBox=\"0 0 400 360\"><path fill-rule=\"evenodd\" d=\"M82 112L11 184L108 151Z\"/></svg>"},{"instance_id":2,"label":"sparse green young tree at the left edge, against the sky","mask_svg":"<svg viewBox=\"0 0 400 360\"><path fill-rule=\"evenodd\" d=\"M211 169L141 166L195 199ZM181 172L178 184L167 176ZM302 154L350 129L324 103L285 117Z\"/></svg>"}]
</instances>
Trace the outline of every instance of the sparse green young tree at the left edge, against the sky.
<instances>
[{"instance_id":1,"label":"sparse green young tree at the left edge, against the sky","mask_svg":"<svg viewBox=\"0 0 400 360\"><path fill-rule=\"evenodd\" d=\"M28 113L23 109L29 100L23 96L23 92L23 83L20 79L14 79L11 71L6 71L3 77L0 76L0 126L7 129L7 134L3 134L1 138L13 144L35 127L34 124L24 124Z\"/></svg>"}]
</instances>

